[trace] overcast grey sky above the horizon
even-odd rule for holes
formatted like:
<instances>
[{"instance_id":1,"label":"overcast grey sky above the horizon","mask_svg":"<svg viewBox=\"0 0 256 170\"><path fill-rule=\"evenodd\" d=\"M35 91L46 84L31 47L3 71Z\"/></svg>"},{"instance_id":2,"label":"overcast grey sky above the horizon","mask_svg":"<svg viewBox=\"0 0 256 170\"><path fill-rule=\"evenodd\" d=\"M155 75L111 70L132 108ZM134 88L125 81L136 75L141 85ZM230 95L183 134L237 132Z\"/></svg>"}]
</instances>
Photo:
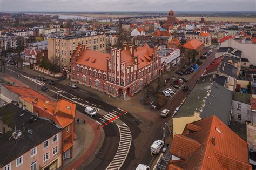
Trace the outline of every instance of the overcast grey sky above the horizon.
<instances>
[{"instance_id":1,"label":"overcast grey sky above the horizon","mask_svg":"<svg viewBox=\"0 0 256 170\"><path fill-rule=\"evenodd\" d=\"M256 0L0 0L0 11L255 11Z\"/></svg>"}]
</instances>

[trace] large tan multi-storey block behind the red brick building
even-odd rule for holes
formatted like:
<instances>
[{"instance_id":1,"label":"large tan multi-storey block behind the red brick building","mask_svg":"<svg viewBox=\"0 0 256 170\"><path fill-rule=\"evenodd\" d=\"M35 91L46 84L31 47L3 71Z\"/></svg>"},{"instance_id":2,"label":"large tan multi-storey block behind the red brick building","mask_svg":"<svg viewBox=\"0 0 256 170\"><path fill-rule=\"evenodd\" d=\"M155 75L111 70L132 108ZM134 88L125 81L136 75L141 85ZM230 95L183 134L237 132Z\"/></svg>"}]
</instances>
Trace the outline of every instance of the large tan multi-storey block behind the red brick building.
<instances>
[{"instance_id":1,"label":"large tan multi-storey block behind the red brick building","mask_svg":"<svg viewBox=\"0 0 256 170\"><path fill-rule=\"evenodd\" d=\"M48 58L71 69L71 55L78 44L85 44L92 51L106 52L106 36L88 31L77 36L48 38Z\"/></svg>"}]
</instances>

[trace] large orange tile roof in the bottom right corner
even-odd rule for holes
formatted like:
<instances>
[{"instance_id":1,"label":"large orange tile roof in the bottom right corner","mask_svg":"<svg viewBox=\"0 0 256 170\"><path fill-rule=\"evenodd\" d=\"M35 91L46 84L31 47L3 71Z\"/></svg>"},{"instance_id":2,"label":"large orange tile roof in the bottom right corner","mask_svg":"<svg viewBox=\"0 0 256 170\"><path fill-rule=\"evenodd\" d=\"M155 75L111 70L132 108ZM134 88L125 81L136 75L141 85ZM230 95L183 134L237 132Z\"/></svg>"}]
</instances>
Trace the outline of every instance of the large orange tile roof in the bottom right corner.
<instances>
[{"instance_id":1,"label":"large orange tile roof in the bottom right corner","mask_svg":"<svg viewBox=\"0 0 256 170\"><path fill-rule=\"evenodd\" d=\"M188 129L185 128L181 136L196 140L201 146L196 152L191 152L190 155L185 153L186 157L181 154L184 157L182 161L173 161L171 165L176 165L181 169L252 169L248 161L246 141L242 140L215 115L191 124L202 128L193 133L189 133ZM215 145L212 137L215 137ZM180 155L180 149L183 150L184 148L179 146L178 143L184 142L186 144L187 141L188 139L183 139L179 135L177 138L174 135L172 142L177 145L172 144L171 153ZM188 152L191 151L190 146L187 148L189 148ZM192 147L192 151L194 150ZM172 166L170 166L170 169L172 169Z\"/></svg>"}]
</instances>

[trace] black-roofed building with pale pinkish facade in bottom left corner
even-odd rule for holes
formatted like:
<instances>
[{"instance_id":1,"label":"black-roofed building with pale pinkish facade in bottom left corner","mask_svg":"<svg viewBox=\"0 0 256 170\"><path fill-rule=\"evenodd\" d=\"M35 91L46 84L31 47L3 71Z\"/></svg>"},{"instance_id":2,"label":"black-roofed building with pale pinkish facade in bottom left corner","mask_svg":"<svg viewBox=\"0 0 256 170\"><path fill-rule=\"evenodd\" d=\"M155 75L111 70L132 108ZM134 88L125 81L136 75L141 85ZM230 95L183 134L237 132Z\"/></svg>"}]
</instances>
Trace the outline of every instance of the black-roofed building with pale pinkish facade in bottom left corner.
<instances>
[{"instance_id":1,"label":"black-roofed building with pale pinkish facade in bottom left corner","mask_svg":"<svg viewBox=\"0 0 256 170\"><path fill-rule=\"evenodd\" d=\"M14 103L0 107L0 116L1 170L60 168L60 128Z\"/></svg>"}]
</instances>

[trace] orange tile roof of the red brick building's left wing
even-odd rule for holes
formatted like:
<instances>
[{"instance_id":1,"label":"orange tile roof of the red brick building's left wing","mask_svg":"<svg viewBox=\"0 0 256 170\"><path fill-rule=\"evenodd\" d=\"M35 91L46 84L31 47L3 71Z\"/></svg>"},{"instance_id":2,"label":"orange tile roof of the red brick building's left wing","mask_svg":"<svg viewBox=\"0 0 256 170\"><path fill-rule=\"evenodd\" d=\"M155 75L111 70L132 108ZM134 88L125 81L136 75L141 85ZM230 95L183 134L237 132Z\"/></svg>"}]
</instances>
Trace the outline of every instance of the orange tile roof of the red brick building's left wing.
<instances>
[{"instance_id":1,"label":"orange tile roof of the red brick building's left wing","mask_svg":"<svg viewBox=\"0 0 256 170\"><path fill-rule=\"evenodd\" d=\"M77 64L86 65L98 70L106 71L107 64L106 58L110 58L110 54L91 51L91 50L83 50L80 56L78 56ZM94 61L93 61L94 60Z\"/></svg>"}]
</instances>

